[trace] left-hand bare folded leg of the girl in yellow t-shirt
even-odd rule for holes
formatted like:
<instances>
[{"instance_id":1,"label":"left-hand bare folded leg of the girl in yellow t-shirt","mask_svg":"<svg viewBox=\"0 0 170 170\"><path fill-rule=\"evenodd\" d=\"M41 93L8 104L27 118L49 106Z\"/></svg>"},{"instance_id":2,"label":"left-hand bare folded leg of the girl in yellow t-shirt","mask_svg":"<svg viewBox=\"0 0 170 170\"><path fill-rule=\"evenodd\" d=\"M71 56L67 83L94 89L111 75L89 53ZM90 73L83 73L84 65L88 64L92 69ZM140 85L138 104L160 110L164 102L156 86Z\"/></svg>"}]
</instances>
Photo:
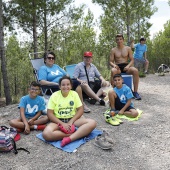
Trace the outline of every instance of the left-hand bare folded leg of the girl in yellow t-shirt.
<instances>
[{"instance_id":1,"label":"left-hand bare folded leg of the girl in yellow t-shirt","mask_svg":"<svg viewBox=\"0 0 170 170\"><path fill-rule=\"evenodd\" d=\"M64 132L60 131L56 123L48 124L42 135L46 141L62 140L64 137L70 136L70 134L65 134Z\"/></svg>"}]
</instances>

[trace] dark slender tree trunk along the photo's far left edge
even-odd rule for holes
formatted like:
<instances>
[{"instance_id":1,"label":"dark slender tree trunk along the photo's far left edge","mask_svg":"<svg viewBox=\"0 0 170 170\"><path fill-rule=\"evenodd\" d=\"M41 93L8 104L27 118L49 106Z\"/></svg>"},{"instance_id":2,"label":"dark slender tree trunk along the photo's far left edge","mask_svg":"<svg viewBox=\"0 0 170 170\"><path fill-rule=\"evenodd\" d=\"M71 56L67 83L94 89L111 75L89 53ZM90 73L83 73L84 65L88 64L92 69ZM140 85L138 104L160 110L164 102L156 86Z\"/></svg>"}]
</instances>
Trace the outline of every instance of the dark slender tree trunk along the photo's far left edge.
<instances>
[{"instance_id":1,"label":"dark slender tree trunk along the photo's far left edge","mask_svg":"<svg viewBox=\"0 0 170 170\"><path fill-rule=\"evenodd\" d=\"M1 72L4 84L4 93L6 97L6 105L11 104L12 98L10 95L10 88L7 77L7 69L5 62L5 48L4 48L4 32L3 32L3 20L2 20L2 0L0 0L0 59L1 59Z\"/></svg>"}]
</instances>

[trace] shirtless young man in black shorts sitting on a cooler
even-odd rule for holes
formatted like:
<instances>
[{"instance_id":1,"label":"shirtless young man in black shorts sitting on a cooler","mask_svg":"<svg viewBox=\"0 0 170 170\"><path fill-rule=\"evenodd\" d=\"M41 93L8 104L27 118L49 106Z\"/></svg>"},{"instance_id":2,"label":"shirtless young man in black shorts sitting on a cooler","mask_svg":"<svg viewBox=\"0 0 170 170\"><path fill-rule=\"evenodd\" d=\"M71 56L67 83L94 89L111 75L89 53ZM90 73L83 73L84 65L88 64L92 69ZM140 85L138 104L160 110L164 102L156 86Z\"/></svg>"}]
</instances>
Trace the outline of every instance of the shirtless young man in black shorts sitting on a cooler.
<instances>
[{"instance_id":1,"label":"shirtless young man in black shorts sitting on a cooler","mask_svg":"<svg viewBox=\"0 0 170 170\"><path fill-rule=\"evenodd\" d=\"M133 67L134 58L132 55L132 50L130 47L124 45L124 37L122 34L116 35L117 47L111 50L110 55L110 65L111 65L111 84L113 84L113 76L115 74L127 73L133 75L133 86L134 86L134 98L136 100L141 100L138 94L138 84L139 84L139 73L138 70Z\"/></svg>"}]
</instances>

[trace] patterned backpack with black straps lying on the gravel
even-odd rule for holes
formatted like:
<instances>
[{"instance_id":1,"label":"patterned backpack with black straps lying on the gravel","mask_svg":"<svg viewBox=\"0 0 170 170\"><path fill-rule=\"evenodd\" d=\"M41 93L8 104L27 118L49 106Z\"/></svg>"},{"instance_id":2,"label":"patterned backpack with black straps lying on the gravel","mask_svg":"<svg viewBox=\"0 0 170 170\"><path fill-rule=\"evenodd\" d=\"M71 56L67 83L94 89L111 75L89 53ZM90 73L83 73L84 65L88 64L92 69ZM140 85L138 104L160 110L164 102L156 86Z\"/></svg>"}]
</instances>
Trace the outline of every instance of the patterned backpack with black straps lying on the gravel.
<instances>
[{"instance_id":1,"label":"patterned backpack with black straps lying on the gravel","mask_svg":"<svg viewBox=\"0 0 170 170\"><path fill-rule=\"evenodd\" d=\"M18 139L17 139L18 138ZM24 150L30 153L24 148L17 148L15 141L19 140L20 136L15 128L8 128L6 126L0 126L0 152L13 151L15 154L18 150Z\"/></svg>"}]
</instances>

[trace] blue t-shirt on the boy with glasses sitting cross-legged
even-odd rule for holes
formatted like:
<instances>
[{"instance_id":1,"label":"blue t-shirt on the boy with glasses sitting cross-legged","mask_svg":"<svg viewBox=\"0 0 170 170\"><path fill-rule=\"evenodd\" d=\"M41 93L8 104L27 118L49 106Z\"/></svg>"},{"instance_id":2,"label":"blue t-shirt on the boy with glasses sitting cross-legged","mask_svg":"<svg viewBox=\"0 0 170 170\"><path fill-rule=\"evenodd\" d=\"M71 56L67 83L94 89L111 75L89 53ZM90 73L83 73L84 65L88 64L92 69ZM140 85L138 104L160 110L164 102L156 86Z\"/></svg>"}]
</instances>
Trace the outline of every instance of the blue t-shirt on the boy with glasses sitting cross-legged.
<instances>
[{"instance_id":1,"label":"blue t-shirt on the boy with glasses sitting cross-legged","mask_svg":"<svg viewBox=\"0 0 170 170\"><path fill-rule=\"evenodd\" d=\"M45 102L41 96L37 96L32 99L29 95L26 95L20 100L18 108L20 109L21 107L25 109L25 117L32 118L37 114L37 112L45 109Z\"/></svg>"}]
</instances>

